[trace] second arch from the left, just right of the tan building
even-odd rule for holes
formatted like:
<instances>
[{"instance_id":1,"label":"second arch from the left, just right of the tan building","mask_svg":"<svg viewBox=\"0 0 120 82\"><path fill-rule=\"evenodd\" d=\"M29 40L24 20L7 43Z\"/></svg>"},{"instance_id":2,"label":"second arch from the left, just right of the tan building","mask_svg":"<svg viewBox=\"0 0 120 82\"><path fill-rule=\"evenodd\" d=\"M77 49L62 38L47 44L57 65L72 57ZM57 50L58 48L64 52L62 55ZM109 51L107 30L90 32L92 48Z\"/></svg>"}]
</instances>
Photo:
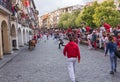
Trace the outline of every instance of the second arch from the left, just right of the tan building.
<instances>
[{"instance_id":1,"label":"second arch from the left, just right of the tan building","mask_svg":"<svg viewBox=\"0 0 120 82\"><path fill-rule=\"evenodd\" d=\"M12 28L11 28L11 37L12 37L12 47L16 48L17 41L16 41L16 29L14 24L12 24Z\"/></svg>"}]
</instances>

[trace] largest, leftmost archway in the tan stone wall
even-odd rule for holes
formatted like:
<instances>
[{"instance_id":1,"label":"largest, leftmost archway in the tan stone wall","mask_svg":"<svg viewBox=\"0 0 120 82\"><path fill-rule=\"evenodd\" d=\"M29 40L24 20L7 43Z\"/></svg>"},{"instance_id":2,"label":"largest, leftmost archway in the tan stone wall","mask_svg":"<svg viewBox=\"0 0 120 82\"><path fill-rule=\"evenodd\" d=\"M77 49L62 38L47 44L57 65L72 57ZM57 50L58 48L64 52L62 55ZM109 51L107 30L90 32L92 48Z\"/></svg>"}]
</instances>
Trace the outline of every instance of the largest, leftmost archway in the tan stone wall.
<instances>
[{"instance_id":1,"label":"largest, leftmost archway in the tan stone wall","mask_svg":"<svg viewBox=\"0 0 120 82\"><path fill-rule=\"evenodd\" d=\"M10 35L6 21L1 24L1 36L3 53L10 53Z\"/></svg>"}]
</instances>

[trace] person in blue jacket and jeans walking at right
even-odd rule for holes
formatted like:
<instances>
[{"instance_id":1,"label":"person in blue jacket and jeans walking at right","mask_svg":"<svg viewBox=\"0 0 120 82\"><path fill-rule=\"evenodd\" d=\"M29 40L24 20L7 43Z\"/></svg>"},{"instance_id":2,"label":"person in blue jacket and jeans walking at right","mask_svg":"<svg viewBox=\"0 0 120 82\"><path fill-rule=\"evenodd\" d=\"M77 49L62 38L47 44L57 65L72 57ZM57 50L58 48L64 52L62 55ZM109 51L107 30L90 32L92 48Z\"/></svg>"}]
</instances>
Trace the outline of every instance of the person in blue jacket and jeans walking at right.
<instances>
[{"instance_id":1,"label":"person in blue jacket and jeans walking at right","mask_svg":"<svg viewBox=\"0 0 120 82\"><path fill-rule=\"evenodd\" d=\"M117 57L115 55L115 51L117 50L117 44L113 41L112 36L109 36L108 39L109 39L109 42L106 45L105 56L107 55L107 52L109 51L110 63L111 63L110 74L114 74L114 72L116 72L116 67L117 67Z\"/></svg>"}]
</instances>

